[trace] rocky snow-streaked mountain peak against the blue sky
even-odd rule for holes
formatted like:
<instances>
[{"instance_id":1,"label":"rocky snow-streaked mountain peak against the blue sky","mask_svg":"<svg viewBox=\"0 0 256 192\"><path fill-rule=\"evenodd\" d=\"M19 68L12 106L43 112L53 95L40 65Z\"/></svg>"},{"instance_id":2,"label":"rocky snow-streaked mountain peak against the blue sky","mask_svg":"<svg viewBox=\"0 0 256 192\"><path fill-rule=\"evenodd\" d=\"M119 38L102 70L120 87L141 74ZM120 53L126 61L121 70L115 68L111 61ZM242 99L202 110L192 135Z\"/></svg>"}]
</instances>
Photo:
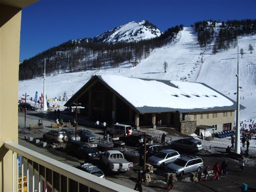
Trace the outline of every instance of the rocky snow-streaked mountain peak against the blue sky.
<instances>
[{"instance_id":1,"label":"rocky snow-streaked mountain peak against the blue sky","mask_svg":"<svg viewBox=\"0 0 256 192\"><path fill-rule=\"evenodd\" d=\"M92 39L96 43L134 42L158 37L162 32L148 21L128 22Z\"/></svg>"}]
</instances>

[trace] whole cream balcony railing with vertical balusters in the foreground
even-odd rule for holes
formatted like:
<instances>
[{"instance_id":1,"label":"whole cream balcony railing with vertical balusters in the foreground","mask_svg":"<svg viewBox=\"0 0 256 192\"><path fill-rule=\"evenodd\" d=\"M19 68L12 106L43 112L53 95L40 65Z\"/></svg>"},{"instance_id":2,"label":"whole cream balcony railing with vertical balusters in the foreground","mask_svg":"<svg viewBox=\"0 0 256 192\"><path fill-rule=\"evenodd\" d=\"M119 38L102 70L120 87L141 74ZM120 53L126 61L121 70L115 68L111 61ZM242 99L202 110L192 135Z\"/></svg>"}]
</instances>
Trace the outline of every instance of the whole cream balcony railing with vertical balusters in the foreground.
<instances>
[{"instance_id":1,"label":"whole cream balcony railing with vertical balusters in the foreground","mask_svg":"<svg viewBox=\"0 0 256 192\"><path fill-rule=\"evenodd\" d=\"M72 166L44 156L38 152L25 148L14 142L5 142L4 147L12 150L12 191L22 191L26 186L27 191L38 192L61 191L61 192L129 192L130 188L114 182L99 178ZM20 156L20 167L19 158ZM17 163L16 163L17 162ZM17 173L15 175L15 173ZM15 183L19 176L26 177L20 180L20 188Z\"/></svg>"}]
</instances>

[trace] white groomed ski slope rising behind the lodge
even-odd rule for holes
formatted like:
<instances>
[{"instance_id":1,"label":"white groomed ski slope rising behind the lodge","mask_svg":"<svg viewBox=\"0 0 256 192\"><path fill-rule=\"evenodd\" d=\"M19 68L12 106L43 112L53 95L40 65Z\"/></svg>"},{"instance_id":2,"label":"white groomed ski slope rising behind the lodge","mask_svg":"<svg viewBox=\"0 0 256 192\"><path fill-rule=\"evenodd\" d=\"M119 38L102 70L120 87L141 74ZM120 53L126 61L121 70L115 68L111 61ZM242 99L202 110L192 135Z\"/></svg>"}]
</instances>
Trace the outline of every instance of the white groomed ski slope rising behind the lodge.
<instances>
[{"instance_id":1,"label":"white groomed ski slope rising behind the lodge","mask_svg":"<svg viewBox=\"0 0 256 192\"><path fill-rule=\"evenodd\" d=\"M139 25L135 22L133 24ZM254 48L252 54L248 51L249 44ZM241 120L256 120L256 35L240 37L239 50L241 48L244 50L244 55L241 58L239 54L240 86L242 87L240 90L240 104L246 107L245 110L241 111ZM168 64L166 72L164 72L164 62ZM58 98L66 92L70 98L94 74L204 82L236 101L234 93L236 92L237 83L237 47L212 54L210 47L200 48L194 28L185 27L184 30L178 33L174 41L161 48L151 50L149 57L142 59L137 66L126 63L120 65L119 68L102 67L100 70L47 76L47 96L48 98ZM19 99L25 93L34 98L36 91L39 95L40 92L43 92L43 78L19 82ZM152 90L151 94L156 94L157 99L156 91ZM197 91L200 92L200 90ZM63 106L64 103L57 102L56 104Z\"/></svg>"}]
</instances>

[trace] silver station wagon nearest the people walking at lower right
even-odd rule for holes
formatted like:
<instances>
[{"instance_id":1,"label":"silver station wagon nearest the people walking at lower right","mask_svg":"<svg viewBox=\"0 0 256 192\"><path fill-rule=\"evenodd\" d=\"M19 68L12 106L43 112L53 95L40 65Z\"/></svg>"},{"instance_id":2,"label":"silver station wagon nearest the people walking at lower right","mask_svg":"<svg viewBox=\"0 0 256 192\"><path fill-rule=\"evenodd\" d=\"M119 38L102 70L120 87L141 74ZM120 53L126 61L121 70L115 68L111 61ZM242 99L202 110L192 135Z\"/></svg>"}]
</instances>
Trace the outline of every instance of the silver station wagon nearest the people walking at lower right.
<instances>
[{"instance_id":1,"label":"silver station wagon nearest the people walking at lower right","mask_svg":"<svg viewBox=\"0 0 256 192\"><path fill-rule=\"evenodd\" d=\"M204 163L200 157L184 156L177 159L174 163L166 166L166 171L182 176L183 174L197 171L199 172L204 167Z\"/></svg>"}]
</instances>

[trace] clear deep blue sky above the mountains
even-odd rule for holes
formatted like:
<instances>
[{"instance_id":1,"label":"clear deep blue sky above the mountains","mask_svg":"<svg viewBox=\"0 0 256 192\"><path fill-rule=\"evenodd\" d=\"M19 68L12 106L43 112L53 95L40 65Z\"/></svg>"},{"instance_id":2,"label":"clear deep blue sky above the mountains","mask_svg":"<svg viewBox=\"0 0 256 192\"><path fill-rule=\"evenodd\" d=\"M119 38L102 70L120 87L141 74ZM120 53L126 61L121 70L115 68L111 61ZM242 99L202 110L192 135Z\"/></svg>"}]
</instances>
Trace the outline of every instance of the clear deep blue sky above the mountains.
<instances>
[{"instance_id":1,"label":"clear deep blue sky above the mountains","mask_svg":"<svg viewBox=\"0 0 256 192\"><path fill-rule=\"evenodd\" d=\"M256 19L256 0L40 0L22 10L20 60L131 21L148 20L164 32L210 19Z\"/></svg>"}]
</instances>

